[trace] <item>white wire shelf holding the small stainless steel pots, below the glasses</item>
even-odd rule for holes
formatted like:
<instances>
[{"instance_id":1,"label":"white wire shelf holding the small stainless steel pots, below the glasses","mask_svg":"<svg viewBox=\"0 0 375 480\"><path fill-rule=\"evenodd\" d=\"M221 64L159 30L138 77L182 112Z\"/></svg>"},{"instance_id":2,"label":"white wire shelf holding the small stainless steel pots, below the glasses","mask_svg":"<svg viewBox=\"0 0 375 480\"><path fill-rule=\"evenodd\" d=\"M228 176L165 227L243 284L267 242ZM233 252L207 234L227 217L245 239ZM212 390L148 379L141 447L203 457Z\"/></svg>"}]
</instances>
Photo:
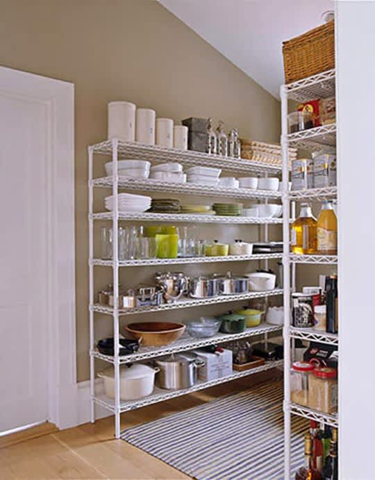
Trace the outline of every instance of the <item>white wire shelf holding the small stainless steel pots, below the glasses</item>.
<instances>
[{"instance_id":1,"label":"white wire shelf holding the small stainless steel pots, below the glasses","mask_svg":"<svg viewBox=\"0 0 375 480\"><path fill-rule=\"evenodd\" d=\"M119 315L133 315L135 313L149 313L149 312L164 312L166 310L176 310L178 308L189 308L194 306L213 305L213 304L225 304L228 301L249 300L253 298L274 297L276 295L283 295L281 288L275 290L267 290L263 292L247 292L239 295L219 295L213 298L204 299L184 299L178 300L173 304L163 304L160 306L144 306L136 308L122 309L119 308ZM111 306L94 304L90 306L90 310L98 313L106 313L108 315L114 315L114 309Z\"/></svg>"}]
</instances>

